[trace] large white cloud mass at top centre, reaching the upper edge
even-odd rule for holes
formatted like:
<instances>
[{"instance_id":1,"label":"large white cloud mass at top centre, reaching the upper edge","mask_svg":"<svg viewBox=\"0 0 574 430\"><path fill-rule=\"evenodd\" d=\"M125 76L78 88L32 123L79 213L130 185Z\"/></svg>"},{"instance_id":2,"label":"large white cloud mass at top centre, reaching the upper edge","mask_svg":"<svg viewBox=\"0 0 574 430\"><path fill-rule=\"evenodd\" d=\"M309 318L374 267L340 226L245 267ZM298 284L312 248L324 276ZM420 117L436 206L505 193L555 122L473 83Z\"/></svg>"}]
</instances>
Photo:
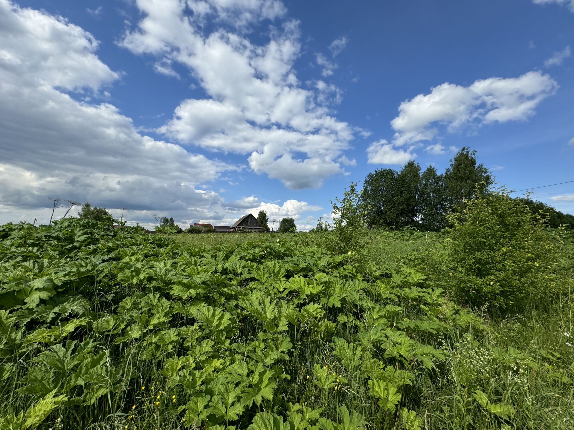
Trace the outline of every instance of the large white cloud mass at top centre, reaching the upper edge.
<instances>
[{"instance_id":1,"label":"large white cloud mass at top centre, reaching the upper edge","mask_svg":"<svg viewBox=\"0 0 574 430\"><path fill-rule=\"evenodd\" d=\"M213 1L205 11L188 13L186 4L197 9L200 3L137 0L143 18L121 41L135 54L184 65L208 96L182 101L158 131L183 144L248 155L255 173L293 189L317 187L344 173L335 160L349 147L353 128L330 111L329 105L340 102L337 87L323 81L300 87L293 69L301 49L298 22L284 19L257 45L237 29L247 32L263 19L283 18L276 2ZM232 18L243 3L251 5L249 13ZM205 19L230 22L232 28L210 33Z\"/></svg>"}]
</instances>

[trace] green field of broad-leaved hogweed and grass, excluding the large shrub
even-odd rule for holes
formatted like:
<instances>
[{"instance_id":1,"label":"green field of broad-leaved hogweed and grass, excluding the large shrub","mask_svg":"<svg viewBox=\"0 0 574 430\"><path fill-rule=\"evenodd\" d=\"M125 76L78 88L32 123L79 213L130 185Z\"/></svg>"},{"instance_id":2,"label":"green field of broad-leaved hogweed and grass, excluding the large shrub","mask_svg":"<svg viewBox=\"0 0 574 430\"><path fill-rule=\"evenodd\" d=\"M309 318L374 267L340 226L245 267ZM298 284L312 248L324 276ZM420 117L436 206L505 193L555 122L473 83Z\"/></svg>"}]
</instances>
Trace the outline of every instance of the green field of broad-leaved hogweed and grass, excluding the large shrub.
<instances>
[{"instance_id":1,"label":"green field of broad-leaved hogweed and grass, excluding the large shrub","mask_svg":"<svg viewBox=\"0 0 574 430\"><path fill-rule=\"evenodd\" d=\"M333 240L0 226L0 429L574 428L571 295L473 312L444 233Z\"/></svg>"}]
</instances>

